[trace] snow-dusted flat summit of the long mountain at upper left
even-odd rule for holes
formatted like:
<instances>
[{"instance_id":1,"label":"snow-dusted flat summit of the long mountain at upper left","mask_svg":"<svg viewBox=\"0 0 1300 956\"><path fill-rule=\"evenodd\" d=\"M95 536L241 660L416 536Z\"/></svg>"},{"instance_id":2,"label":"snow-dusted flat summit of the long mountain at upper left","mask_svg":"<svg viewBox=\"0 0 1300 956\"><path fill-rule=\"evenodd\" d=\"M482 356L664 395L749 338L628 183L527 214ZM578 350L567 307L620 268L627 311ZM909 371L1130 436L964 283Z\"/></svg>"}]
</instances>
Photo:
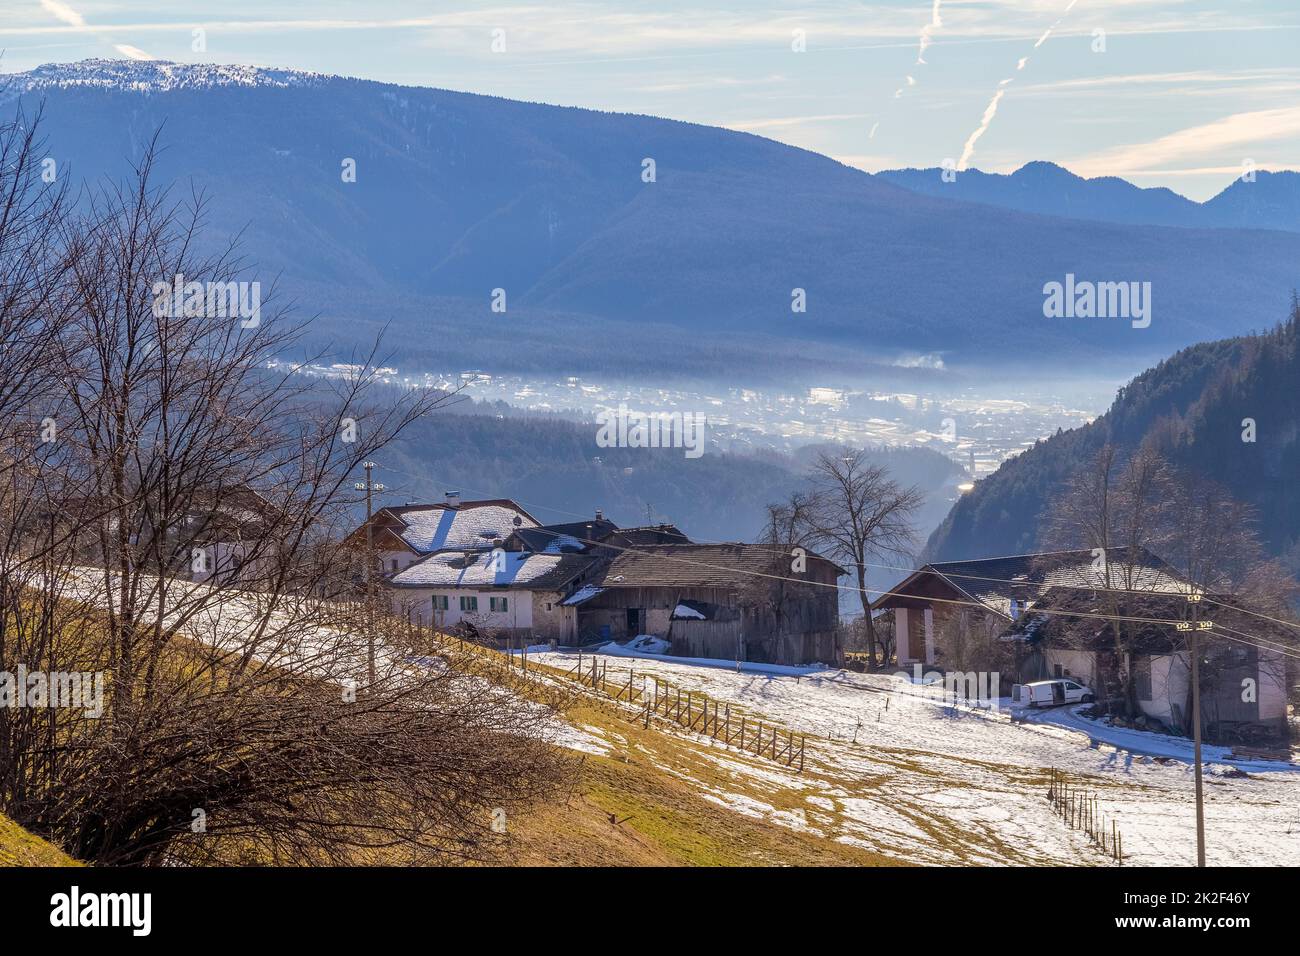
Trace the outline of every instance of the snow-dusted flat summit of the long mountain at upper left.
<instances>
[{"instance_id":1,"label":"snow-dusted flat summit of the long mountain at upper left","mask_svg":"<svg viewBox=\"0 0 1300 956\"><path fill-rule=\"evenodd\" d=\"M282 70L231 64L178 64L170 60L90 59L68 64L43 64L8 77L8 92L96 87L133 92L170 92L218 86L290 87L313 86L328 79L324 73Z\"/></svg>"}]
</instances>

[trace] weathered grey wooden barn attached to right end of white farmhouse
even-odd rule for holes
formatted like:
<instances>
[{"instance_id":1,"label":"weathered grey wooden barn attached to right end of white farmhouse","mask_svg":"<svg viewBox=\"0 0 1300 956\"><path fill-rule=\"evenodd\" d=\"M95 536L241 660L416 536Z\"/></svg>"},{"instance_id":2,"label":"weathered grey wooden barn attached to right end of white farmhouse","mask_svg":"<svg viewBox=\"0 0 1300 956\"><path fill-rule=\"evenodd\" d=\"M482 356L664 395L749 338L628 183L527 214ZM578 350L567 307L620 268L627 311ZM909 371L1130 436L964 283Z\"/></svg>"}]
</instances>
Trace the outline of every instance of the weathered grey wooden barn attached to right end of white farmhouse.
<instances>
[{"instance_id":1,"label":"weathered grey wooden barn attached to right end of white farmhouse","mask_svg":"<svg viewBox=\"0 0 1300 956\"><path fill-rule=\"evenodd\" d=\"M681 657L837 665L842 574L816 554L794 572L767 545L647 545L621 551L566 604L585 640L654 635Z\"/></svg>"}]
</instances>

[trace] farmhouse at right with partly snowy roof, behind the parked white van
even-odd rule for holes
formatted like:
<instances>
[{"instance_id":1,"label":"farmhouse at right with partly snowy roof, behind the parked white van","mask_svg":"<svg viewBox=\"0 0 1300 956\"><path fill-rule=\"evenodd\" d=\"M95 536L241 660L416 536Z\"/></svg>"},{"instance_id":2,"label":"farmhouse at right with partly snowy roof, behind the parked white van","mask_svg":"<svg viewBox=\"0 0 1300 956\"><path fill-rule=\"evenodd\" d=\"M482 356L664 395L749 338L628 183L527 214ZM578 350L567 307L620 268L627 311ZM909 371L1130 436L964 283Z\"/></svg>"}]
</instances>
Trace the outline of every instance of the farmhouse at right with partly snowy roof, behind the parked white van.
<instances>
[{"instance_id":1,"label":"farmhouse at right with partly snowy roof, behind the parked white van","mask_svg":"<svg viewBox=\"0 0 1300 956\"><path fill-rule=\"evenodd\" d=\"M1186 732L1191 657L1184 628L1192 592L1145 550L1110 549L1105 559L1054 551L926 564L872 610L893 610L901 666L1005 670L1011 683L1075 678L1098 700L1131 693L1150 723ZM1199 609L1206 628L1200 632L1206 739L1284 732L1287 658L1274 646L1291 636L1226 597L1205 596ZM1122 643L1110 622L1115 617L1131 619ZM1216 631L1217 624L1231 631ZM1234 640L1232 632L1265 640Z\"/></svg>"}]
</instances>

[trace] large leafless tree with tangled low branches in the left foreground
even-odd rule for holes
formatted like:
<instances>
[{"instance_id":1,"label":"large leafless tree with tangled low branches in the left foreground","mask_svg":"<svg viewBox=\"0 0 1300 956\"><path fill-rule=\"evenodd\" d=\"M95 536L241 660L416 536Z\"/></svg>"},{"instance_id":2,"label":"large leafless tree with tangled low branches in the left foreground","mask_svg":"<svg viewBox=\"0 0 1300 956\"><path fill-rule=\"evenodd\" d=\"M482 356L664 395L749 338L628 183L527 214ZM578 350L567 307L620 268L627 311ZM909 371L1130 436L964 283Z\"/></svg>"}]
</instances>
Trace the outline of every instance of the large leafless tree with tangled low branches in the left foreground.
<instances>
[{"instance_id":1,"label":"large leafless tree with tangled low branches in the left foreground","mask_svg":"<svg viewBox=\"0 0 1300 956\"><path fill-rule=\"evenodd\" d=\"M552 709L395 623L372 683L368 615L321 597L352 475L446 397L376 398L378 346L334 381L273 367L298 329L274 290L213 311L243 263L202 251L202 196L153 187L152 157L56 220L35 297L58 388L27 403L57 440L16 455L0 669L107 693L0 709L0 806L100 864L489 858L571 771ZM208 567L220 541L238 559Z\"/></svg>"}]
</instances>

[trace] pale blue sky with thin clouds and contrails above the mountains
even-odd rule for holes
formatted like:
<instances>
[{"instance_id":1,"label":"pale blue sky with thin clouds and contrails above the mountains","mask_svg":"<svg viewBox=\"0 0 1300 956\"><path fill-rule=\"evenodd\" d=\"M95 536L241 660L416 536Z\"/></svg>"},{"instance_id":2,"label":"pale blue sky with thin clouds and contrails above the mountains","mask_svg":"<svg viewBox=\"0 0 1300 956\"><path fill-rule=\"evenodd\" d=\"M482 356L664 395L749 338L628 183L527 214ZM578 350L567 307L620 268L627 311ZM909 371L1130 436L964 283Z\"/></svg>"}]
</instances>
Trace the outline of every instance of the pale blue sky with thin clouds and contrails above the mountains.
<instances>
[{"instance_id":1,"label":"pale blue sky with thin clouds and contrails above the mountains","mask_svg":"<svg viewBox=\"0 0 1300 956\"><path fill-rule=\"evenodd\" d=\"M157 57L650 113L868 170L1041 159L1205 199L1245 160L1300 169L1297 0L5 0L0 48L4 72Z\"/></svg>"}]
</instances>

